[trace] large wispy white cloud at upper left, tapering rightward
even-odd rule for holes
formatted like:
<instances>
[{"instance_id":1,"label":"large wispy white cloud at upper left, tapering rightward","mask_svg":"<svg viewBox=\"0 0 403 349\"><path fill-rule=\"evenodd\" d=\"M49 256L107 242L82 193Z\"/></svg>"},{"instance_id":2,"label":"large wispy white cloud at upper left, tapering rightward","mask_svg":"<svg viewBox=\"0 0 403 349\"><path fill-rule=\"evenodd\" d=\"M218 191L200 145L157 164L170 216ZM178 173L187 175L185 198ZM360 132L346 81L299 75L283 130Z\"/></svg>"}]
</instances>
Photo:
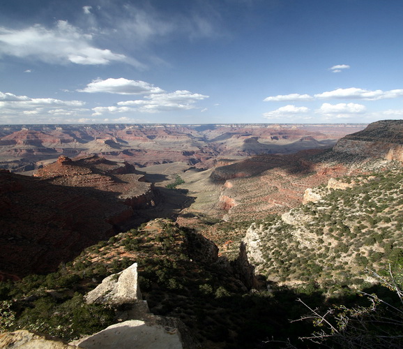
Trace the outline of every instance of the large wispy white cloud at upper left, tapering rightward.
<instances>
[{"instance_id":1,"label":"large wispy white cloud at upper left, tapering rightward","mask_svg":"<svg viewBox=\"0 0 403 349\"><path fill-rule=\"evenodd\" d=\"M0 57L8 55L19 58L31 57L52 64L109 64L112 61L126 61L142 66L107 49L95 47L92 34L84 34L67 21L59 20L52 29L40 24L26 29L0 27Z\"/></svg>"}]
</instances>

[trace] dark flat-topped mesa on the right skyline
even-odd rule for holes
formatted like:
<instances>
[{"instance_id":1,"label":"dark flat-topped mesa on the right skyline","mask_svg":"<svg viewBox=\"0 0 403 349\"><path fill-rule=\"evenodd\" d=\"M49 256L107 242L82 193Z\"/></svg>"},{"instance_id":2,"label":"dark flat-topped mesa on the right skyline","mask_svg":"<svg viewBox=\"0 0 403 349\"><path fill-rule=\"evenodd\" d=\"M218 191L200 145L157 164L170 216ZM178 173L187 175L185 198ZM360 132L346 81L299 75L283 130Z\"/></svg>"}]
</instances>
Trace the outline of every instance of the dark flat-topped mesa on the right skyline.
<instances>
[{"instance_id":1,"label":"dark flat-topped mesa on the right skyline","mask_svg":"<svg viewBox=\"0 0 403 349\"><path fill-rule=\"evenodd\" d=\"M403 161L403 120L374 122L363 131L344 136L333 150L339 153Z\"/></svg>"}]
</instances>

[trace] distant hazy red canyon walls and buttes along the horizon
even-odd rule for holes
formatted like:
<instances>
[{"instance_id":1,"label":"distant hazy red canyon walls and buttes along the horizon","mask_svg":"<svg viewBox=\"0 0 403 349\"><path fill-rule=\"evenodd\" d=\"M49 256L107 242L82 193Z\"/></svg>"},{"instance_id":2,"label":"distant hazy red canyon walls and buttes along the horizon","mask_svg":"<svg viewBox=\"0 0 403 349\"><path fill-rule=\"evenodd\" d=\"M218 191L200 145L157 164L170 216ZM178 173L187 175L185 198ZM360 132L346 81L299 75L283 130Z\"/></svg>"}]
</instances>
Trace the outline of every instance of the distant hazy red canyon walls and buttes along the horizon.
<instances>
[{"instance_id":1,"label":"distant hazy red canyon walls and buttes along the horizon","mask_svg":"<svg viewBox=\"0 0 403 349\"><path fill-rule=\"evenodd\" d=\"M290 154L331 147L363 124L98 124L0 126L0 168L36 170L68 157L98 154L137 167L181 161L211 168L217 158Z\"/></svg>"}]
</instances>

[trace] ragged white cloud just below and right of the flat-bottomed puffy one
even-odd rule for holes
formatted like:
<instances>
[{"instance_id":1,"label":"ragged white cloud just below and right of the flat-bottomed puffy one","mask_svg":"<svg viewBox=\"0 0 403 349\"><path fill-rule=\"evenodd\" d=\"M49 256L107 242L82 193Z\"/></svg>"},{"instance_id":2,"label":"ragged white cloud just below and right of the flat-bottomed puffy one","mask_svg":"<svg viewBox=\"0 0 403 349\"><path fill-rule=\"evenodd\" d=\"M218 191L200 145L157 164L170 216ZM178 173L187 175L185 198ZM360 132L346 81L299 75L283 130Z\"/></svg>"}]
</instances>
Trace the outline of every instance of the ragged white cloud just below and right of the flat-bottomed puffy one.
<instances>
[{"instance_id":1,"label":"ragged white cloud just below and right of the flat-bottomed puffy one","mask_svg":"<svg viewBox=\"0 0 403 349\"><path fill-rule=\"evenodd\" d=\"M167 94L151 94L144 100L119 102L118 105L136 107L140 112L162 112L172 110L190 110L195 108L197 101L208 96L192 94L190 91L175 91Z\"/></svg>"}]
</instances>

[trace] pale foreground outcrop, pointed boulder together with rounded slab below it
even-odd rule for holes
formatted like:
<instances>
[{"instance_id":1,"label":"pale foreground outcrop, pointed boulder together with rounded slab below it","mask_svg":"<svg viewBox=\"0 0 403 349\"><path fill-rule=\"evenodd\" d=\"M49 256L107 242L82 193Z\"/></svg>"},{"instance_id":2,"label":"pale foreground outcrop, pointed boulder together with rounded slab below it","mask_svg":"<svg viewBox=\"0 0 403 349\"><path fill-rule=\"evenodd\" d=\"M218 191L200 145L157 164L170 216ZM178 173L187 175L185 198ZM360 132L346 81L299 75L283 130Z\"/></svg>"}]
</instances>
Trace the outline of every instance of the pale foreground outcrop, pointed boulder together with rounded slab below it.
<instances>
[{"instance_id":1,"label":"pale foreground outcrop, pointed boulder together with rounded slab below it","mask_svg":"<svg viewBox=\"0 0 403 349\"><path fill-rule=\"evenodd\" d=\"M125 310L118 318L122 322L70 343L79 348L199 348L198 341L181 320L150 313L139 289L137 263L107 276L85 299L89 304L124 305Z\"/></svg>"}]
</instances>

